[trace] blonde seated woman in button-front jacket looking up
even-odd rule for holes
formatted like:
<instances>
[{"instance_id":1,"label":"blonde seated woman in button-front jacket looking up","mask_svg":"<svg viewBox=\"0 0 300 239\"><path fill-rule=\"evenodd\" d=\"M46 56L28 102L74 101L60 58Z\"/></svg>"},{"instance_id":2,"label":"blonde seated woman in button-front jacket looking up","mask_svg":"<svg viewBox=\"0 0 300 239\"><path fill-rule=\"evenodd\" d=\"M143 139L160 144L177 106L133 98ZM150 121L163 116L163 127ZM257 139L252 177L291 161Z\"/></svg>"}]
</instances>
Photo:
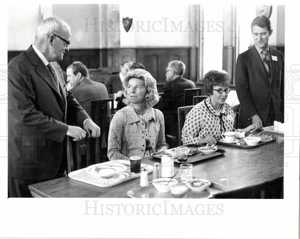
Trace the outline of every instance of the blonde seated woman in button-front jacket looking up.
<instances>
[{"instance_id":1,"label":"blonde seated woman in button-front jacket looking up","mask_svg":"<svg viewBox=\"0 0 300 239\"><path fill-rule=\"evenodd\" d=\"M152 108L159 101L156 80L146 70L136 69L126 74L123 86L127 106L117 111L110 123L108 158L144 158L166 150L164 115Z\"/></svg>"}]
</instances>

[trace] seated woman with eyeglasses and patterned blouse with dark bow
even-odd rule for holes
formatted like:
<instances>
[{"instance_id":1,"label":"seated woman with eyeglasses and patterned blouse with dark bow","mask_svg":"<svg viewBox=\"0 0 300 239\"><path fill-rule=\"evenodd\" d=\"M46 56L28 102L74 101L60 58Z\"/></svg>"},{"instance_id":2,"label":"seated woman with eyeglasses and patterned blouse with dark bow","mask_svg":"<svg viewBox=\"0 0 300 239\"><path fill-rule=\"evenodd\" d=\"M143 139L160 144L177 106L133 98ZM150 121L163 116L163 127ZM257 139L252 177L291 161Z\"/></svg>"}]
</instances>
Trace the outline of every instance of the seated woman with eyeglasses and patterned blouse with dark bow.
<instances>
[{"instance_id":1,"label":"seated woman with eyeglasses and patterned blouse with dark bow","mask_svg":"<svg viewBox=\"0 0 300 239\"><path fill-rule=\"evenodd\" d=\"M187 114L182 129L182 142L186 144L216 144L221 133L235 131L235 115L231 106L225 103L230 91L229 74L222 70L210 70L203 78L203 88L208 97L198 103ZM255 131L253 124L239 132Z\"/></svg>"}]
</instances>

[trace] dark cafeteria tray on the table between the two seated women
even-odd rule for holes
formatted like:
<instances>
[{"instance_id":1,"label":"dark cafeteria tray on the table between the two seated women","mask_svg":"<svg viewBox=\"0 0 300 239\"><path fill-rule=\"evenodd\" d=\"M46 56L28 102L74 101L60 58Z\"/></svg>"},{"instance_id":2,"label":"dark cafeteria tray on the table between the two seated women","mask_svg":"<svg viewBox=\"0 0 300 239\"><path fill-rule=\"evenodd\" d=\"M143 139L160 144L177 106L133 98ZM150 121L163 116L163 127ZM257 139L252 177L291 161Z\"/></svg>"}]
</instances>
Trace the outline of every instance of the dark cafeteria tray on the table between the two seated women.
<instances>
[{"instance_id":1,"label":"dark cafeteria tray on the table between the two seated women","mask_svg":"<svg viewBox=\"0 0 300 239\"><path fill-rule=\"evenodd\" d=\"M187 148L191 148L191 149L195 149L195 148L199 147L199 145L193 145L193 144L184 145L184 146L187 147ZM182 147L182 146L180 146L180 147ZM180 148L180 147L177 147L177 148ZM151 156L154 157L154 158L161 159L161 154L163 152L164 151L152 153ZM177 158L174 158L174 163L176 163L176 164L196 163L196 162L199 162L199 161L202 161L202 160L208 160L208 159L212 159L212 158L218 157L220 155L223 155L224 153L225 153L225 150L223 150L223 149L218 149L216 152L214 152L212 154L201 154L201 155L198 155L198 154L195 153L195 154L187 156L187 162L178 162Z\"/></svg>"}]
</instances>

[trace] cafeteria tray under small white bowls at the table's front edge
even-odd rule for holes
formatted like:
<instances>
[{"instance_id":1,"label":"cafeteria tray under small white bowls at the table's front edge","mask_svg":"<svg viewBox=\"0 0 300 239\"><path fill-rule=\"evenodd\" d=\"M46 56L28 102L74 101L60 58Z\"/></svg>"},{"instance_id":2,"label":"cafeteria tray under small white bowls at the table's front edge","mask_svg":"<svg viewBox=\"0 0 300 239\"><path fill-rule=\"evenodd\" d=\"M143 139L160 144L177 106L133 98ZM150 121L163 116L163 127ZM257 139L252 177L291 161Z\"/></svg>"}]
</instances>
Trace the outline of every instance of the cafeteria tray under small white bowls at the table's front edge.
<instances>
[{"instance_id":1,"label":"cafeteria tray under small white bowls at the table's front edge","mask_svg":"<svg viewBox=\"0 0 300 239\"><path fill-rule=\"evenodd\" d=\"M188 189L187 193L183 198L211 198L215 194L223 193L226 191L229 191L229 187L215 182L211 182L211 186L209 186L206 190L202 192L195 192L191 189ZM173 198L170 192L158 192L158 190L154 187L153 184L130 190L127 192L127 195L131 198Z\"/></svg>"}]
</instances>

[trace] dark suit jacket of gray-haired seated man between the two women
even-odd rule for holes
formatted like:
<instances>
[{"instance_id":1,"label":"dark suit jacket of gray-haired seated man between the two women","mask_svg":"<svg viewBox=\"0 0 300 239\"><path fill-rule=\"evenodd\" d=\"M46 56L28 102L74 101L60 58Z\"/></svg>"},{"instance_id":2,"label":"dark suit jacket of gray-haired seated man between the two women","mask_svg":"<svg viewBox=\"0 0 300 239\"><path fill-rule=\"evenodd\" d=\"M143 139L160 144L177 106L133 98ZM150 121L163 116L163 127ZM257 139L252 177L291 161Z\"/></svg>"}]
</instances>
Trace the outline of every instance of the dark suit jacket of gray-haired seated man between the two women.
<instances>
[{"instance_id":1,"label":"dark suit jacket of gray-haired seated man between the two women","mask_svg":"<svg viewBox=\"0 0 300 239\"><path fill-rule=\"evenodd\" d=\"M166 82L161 99L162 104L165 106L162 110L165 117L165 134L177 137L177 134L173 131L178 128L177 109L184 106L184 89L190 88L196 88L195 83L181 77Z\"/></svg>"}]
</instances>

